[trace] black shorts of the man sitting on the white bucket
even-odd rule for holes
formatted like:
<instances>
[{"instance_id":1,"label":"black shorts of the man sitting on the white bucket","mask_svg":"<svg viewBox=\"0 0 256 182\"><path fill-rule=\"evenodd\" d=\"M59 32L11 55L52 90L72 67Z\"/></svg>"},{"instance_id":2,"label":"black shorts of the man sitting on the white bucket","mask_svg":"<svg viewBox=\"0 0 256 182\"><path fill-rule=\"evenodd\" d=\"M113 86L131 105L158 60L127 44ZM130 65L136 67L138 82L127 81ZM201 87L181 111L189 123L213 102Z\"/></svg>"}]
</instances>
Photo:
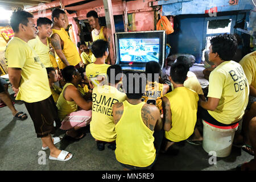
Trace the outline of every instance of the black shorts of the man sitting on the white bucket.
<instances>
[{"instance_id":1,"label":"black shorts of the man sitting on the white bucket","mask_svg":"<svg viewBox=\"0 0 256 182\"><path fill-rule=\"evenodd\" d=\"M218 122L216 119L214 119L206 109L204 109L203 107L201 106L198 106L197 108L197 118L200 118L200 119L204 119L204 121L212 124L212 125L216 125L216 126L232 126L238 122L235 122L235 123L232 123L232 124L229 124L229 125L225 125L224 123L221 123L221 122Z\"/></svg>"}]
</instances>

